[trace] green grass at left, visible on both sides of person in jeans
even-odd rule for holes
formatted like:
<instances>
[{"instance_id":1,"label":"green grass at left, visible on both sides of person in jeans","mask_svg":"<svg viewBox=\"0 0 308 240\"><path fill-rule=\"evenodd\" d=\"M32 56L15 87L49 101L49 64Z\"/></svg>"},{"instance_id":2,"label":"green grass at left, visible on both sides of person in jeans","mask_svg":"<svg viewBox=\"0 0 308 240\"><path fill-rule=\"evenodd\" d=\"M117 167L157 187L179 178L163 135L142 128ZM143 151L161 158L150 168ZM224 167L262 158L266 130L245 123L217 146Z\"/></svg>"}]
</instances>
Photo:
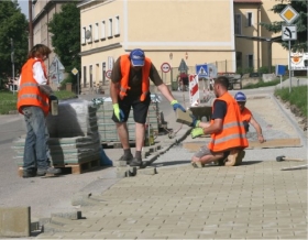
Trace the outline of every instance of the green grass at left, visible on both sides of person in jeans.
<instances>
[{"instance_id":1,"label":"green grass at left, visible on both sides of person in jeans","mask_svg":"<svg viewBox=\"0 0 308 240\"><path fill-rule=\"evenodd\" d=\"M55 96L59 100L76 98L76 94L72 91L55 91ZM18 92L12 91L0 91L0 114L8 114L10 111L18 110L16 109L16 102L18 102Z\"/></svg>"}]
</instances>

